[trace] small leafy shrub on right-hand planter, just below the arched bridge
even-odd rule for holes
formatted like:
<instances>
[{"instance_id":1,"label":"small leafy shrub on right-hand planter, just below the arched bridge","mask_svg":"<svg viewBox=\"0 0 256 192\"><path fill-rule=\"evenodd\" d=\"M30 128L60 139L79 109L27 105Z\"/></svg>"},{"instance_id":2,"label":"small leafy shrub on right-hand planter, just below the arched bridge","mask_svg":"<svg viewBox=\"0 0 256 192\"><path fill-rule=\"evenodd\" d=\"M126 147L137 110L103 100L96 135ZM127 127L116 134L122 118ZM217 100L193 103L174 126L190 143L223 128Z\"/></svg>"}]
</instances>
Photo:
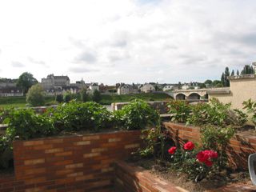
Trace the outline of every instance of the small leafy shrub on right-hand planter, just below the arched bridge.
<instances>
[{"instance_id":1,"label":"small leafy shrub on right-hand planter, just below the arched bridge","mask_svg":"<svg viewBox=\"0 0 256 192\"><path fill-rule=\"evenodd\" d=\"M190 116L191 107L188 102L172 100L167 104L169 114L172 114L172 119L175 122L186 122Z\"/></svg>"}]
</instances>

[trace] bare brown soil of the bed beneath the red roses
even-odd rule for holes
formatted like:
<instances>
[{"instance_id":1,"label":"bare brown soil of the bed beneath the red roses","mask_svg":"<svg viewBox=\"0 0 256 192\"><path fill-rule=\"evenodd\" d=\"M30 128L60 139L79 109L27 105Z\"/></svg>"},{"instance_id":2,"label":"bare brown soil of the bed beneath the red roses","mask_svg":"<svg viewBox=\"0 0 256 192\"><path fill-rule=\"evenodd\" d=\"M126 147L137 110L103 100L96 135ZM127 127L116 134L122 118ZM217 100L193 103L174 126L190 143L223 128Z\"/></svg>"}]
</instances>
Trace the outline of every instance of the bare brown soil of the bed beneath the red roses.
<instances>
[{"instance_id":1,"label":"bare brown soil of the bed beneath the red roses","mask_svg":"<svg viewBox=\"0 0 256 192\"><path fill-rule=\"evenodd\" d=\"M128 161L131 166L139 166L147 170L155 178L162 178L170 182L173 186L180 186L188 191L206 191L215 190L223 186L234 183L244 183L248 186L250 177L247 171L222 171L222 173L211 174L209 178L204 178L199 182L192 181L188 175L182 174L177 170L170 168L170 162L154 161L154 159L140 159L137 161Z\"/></svg>"}]
</instances>

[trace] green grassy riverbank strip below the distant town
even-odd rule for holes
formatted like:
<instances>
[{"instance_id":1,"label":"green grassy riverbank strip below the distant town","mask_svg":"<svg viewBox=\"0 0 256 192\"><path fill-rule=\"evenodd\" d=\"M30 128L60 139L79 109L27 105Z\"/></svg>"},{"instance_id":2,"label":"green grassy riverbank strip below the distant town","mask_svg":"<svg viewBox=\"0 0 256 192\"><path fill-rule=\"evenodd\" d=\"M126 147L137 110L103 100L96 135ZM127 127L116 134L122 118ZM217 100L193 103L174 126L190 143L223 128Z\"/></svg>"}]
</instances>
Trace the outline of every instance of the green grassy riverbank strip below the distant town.
<instances>
[{"instance_id":1,"label":"green grassy riverbank strip below the distant town","mask_svg":"<svg viewBox=\"0 0 256 192\"><path fill-rule=\"evenodd\" d=\"M163 93L150 94L123 94L123 95L101 95L100 103L102 105L110 105L112 102L130 102L134 98L142 99L143 101L165 101L169 100L170 96ZM78 97L79 98L79 97ZM54 103L54 97L46 97L46 105ZM26 106L26 97L0 97L0 107L24 107Z\"/></svg>"}]
</instances>

